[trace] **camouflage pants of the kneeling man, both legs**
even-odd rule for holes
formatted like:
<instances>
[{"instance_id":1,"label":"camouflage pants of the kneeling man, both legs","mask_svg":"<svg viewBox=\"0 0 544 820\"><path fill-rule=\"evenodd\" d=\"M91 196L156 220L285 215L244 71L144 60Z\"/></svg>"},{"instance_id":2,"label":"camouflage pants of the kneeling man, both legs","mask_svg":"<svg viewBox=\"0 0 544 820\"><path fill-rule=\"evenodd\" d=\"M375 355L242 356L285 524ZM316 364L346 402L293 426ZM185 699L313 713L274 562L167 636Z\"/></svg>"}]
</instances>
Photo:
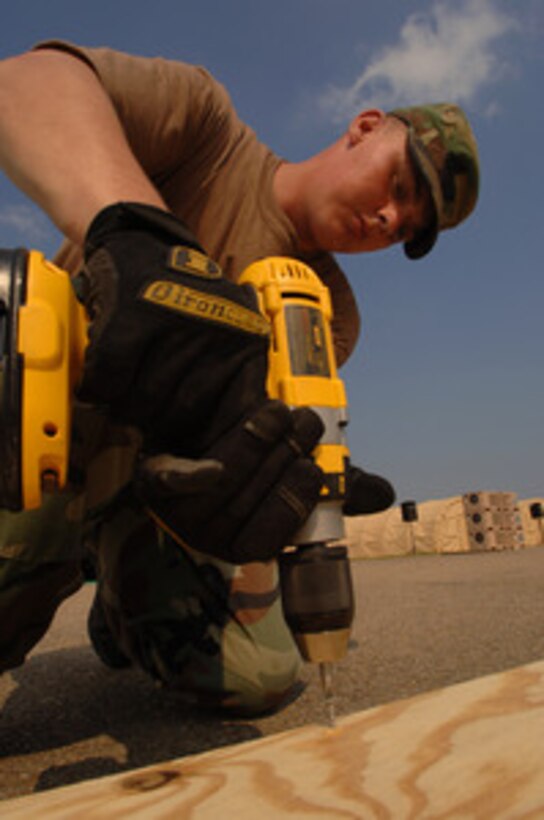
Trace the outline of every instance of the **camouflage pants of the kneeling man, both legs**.
<instances>
[{"instance_id":1,"label":"camouflage pants of the kneeling man, both legs","mask_svg":"<svg viewBox=\"0 0 544 820\"><path fill-rule=\"evenodd\" d=\"M67 499L0 513L0 671L23 662L81 584ZM90 527L97 594L124 655L200 704L246 713L290 690L299 655L283 620L274 563L237 567L182 550L133 503Z\"/></svg>"}]
</instances>

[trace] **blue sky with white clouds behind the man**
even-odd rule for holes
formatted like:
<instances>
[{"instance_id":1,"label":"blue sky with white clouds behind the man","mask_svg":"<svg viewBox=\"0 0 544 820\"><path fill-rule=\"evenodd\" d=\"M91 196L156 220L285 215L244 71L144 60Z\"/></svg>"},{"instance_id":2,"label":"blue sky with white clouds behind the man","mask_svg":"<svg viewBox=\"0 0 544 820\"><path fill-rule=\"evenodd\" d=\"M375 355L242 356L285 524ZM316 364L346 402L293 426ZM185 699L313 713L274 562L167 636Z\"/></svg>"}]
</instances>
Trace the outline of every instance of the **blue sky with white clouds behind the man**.
<instances>
[{"instance_id":1,"label":"blue sky with white clouds behind the man","mask_svg":"<svg viewBox=\"0 0 544 820\"><path fill-rule=\"evenodd\" d=\"M399 500L544 496L544 0L18 0L2 30L2 57L62 37L201 63L290 160L359 109L461 103L481 153L474 216L419 262L340 258L363 319L342 371L350 448ZM57 242L0 181L0 245Z\"/></svg>"}]
</instances>

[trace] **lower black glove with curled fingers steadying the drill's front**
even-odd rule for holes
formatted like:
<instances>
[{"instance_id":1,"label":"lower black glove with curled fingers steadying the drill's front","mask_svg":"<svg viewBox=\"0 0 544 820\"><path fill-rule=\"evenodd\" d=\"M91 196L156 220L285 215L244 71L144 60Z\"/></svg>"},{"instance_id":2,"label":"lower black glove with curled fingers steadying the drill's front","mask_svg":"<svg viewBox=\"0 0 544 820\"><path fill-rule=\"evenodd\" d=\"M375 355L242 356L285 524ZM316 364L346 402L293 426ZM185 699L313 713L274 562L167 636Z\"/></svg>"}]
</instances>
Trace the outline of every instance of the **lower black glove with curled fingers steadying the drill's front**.
<instances>
[{"instance_id":1,"label":"lower black glove with curled fingers steadying the drill's front","mask_svg":"<svg viewBox=\"0 0 544 820\"><path fill-rule=\"evenodd\" d=\"M322 434L312 410L267 400L202 459L142 459L134 489L181 545L235 564L267 561L319 500L323 473L310 453Z\"/></svg>"}]
</instances>

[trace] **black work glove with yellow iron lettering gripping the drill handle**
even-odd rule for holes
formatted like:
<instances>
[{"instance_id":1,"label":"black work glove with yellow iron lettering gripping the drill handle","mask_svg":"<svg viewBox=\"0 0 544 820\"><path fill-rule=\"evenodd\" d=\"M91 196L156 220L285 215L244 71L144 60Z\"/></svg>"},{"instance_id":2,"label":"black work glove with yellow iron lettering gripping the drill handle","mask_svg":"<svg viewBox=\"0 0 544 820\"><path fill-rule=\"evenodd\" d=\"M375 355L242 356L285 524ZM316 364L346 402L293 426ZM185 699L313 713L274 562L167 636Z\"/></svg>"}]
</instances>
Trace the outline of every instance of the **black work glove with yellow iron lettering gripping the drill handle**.
<instances>
[{"instance_id":1,"label":"black work glove with yellow iron lettering gripping the drill handle","mask_svg":"<svg viewBox=\"0 0 544 820\"><path fill-rule=\"evenodd\" d=\"M172 214L119 203L85 241L90 318L79 399L138 427L151 452L200 454L265 398L269 328Z\"/></svg>"}]
</instances>

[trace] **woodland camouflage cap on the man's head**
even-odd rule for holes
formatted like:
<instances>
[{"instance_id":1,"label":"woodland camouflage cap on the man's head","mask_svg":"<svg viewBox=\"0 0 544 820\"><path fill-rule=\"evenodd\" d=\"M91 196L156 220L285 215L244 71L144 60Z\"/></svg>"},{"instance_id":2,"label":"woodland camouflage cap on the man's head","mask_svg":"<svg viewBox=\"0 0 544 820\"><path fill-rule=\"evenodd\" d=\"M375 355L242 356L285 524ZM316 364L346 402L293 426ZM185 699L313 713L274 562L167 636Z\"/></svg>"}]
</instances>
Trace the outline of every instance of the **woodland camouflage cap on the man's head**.
<instances>
[{"instance_id":1,"label":"woodland camouflage cap on the man's head","mask_svg":"<svg viewBox=\"0 0 544 820\"><path fill-rule=\"evenodd\" d=\"M408 150L431 195L429 223L404 245L409 259L420 259L431 250L439 231L458 225L473 210L478 149L464 112L452 103L396 108L389 116L408 126Z\"/></svg>"}]
</instances>

